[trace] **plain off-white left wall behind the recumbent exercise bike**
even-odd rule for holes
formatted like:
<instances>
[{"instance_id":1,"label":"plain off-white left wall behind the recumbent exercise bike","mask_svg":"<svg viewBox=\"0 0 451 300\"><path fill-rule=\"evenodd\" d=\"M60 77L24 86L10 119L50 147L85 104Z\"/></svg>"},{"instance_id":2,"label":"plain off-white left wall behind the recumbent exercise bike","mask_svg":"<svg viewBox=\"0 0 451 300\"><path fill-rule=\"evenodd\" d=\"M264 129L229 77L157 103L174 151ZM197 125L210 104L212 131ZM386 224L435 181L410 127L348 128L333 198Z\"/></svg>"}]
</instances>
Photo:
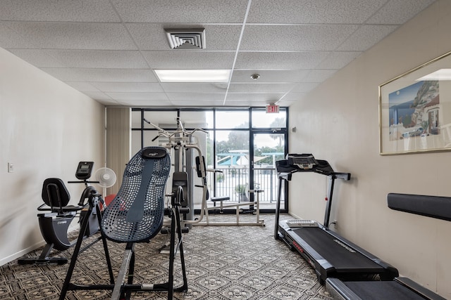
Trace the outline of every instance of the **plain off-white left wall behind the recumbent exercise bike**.
<instances>
[{"instance_id":1,"label":"plain off-white left wall behind the recumbent exercise bike","mask_svg":"<svg viewBox=\"0 0 451 300\"><path fill-rule=\"evenodd\" d=\"M36 208L45 178L103 167L104 106L0 48L0 265L43 244ZM7 172L13 162L14 172ZM82 184L68 184L70 204Z\"/></svg>"}]
</instances>

